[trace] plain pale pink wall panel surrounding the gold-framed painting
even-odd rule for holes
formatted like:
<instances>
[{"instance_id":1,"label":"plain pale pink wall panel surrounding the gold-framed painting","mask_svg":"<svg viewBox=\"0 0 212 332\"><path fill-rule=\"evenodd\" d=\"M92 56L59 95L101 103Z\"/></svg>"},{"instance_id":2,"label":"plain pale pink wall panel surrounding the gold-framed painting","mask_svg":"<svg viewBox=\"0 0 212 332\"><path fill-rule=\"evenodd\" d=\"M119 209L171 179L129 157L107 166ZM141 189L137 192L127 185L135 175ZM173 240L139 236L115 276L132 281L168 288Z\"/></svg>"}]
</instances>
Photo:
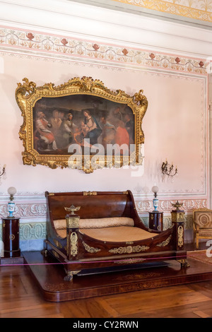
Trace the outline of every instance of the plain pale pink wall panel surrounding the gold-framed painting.
<instances>
[{"instance_id":1,"label":"plain pale pink wall panel surrounding the gold-framed painting","mask_svg":"<svg viewBox=\"0 0 212 332\"><path fill-rule=\"evenodd\" d=\"M54 82L62 84L75 76L92 76L108 88L120 88L130 95L141 88L148 98L148 110L143 118L145 134L145 162L142 177L131 177L131 170L96 170L83 174L80 170L51 170L48 167L23 165L22 142L18 138L23 118L14 93L23 77L37 85ZM182 196L206 196L207 174L207 114L205 105L206 81L204 77L190 77L182 73L155 73L130 69L86 66L51 59L26 59L4 56L4 74L1 74L1 160L7 165L7 179L1 184L4 193L8 186L20 192L73 190L124 190L142 195L151 192L156 182L160 192ZM177 165L179 174L174 182L163 181L160 165L165 159ZM135 175L135 174L134 174ZM66 181L66 179L70 181ZM55 181L57 179L57 181ZM124 179L124 182L123 182ZM54 181L52 181L54 180ZM70 188L71 185L71 188Z\"/></svg>"}]
</instances>

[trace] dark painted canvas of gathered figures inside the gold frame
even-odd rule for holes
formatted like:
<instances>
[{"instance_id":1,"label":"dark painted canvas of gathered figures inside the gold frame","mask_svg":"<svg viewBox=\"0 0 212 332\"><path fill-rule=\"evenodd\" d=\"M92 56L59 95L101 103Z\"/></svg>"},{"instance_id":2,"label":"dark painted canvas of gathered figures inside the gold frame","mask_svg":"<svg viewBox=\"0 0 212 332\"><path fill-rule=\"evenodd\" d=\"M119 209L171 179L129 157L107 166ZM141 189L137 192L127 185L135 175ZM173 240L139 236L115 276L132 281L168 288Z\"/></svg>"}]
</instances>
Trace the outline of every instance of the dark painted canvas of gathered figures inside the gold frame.
<instances>
[{"instance_id":1,"label":"dark painted canvas of gathered figures inside the gold frame","mask_svg":"<svg viewBox=\"0 0 212 332\"><path fill-rule=\"evenodd\" d=\"M126 104L90 95L42 97L33 107L33 144L40 154L68 154L71 144L134 144L134 114ZM122 152L124 153L124 152Z\"/></svg>"}]
</instances>

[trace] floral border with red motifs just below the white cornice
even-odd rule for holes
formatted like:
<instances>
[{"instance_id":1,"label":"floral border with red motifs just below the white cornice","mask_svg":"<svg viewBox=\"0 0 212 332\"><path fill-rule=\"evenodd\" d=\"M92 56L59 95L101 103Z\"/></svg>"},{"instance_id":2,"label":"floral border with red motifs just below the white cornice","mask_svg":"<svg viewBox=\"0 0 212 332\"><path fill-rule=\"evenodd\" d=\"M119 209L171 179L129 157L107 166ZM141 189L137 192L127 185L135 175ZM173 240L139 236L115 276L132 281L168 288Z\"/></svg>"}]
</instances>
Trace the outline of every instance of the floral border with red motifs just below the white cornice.
<instances>
[{"instance_id":1,"label":"floral border with red motifs just below the white cornice","mask_svg":"<svg viewBox=\"0 0 212 332\"><path fill-rule=\"evenodd\" d=\"M34 54L38 57L48 55L54 59L66 59L67 61L80 58L81 61L82 59L95 61L95 64L112 63L121 66L127 65L129 68L139 67L141 69L143 66L163 71L208 74L206 59L1 26L0 51Z\"/></svg>"}]
</instances>

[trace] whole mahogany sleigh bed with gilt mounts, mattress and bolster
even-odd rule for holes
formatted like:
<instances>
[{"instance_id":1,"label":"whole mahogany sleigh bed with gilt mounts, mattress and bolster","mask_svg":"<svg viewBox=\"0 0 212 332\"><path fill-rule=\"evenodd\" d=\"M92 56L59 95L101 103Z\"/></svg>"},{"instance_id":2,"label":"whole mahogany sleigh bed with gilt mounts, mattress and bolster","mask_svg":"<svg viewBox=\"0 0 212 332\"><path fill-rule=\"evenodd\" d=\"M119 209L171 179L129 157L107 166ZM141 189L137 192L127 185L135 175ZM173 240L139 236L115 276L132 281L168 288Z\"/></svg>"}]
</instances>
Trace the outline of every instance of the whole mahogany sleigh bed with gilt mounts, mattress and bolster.
<instances>
[{"instance_id":1,"label":"whole mahogany sleigh bed with gilt mounts, mattress and bolster","mask_svg":"<svg viewBox=\"0 0 212 332\"><path fill-rule=\"evenodd\" d=\"M64 280L80 271L149 261L176 259L189 266L182 213L173 211L172 227L160 232L143 225L131 191L45 195L48 220L42 254L49 252L64 264Z\"/></svg>"}]
</instances>

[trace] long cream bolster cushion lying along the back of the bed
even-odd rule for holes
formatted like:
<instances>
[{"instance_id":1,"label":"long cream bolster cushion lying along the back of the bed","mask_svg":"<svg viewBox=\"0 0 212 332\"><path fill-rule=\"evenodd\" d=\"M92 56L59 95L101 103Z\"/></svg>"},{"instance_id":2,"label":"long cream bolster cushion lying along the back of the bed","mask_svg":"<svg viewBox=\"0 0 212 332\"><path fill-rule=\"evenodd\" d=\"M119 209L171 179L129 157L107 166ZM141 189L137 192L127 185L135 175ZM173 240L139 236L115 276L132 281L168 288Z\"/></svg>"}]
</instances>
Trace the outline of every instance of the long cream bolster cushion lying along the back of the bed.
<instances>
[{"instance_id":1,"label":"long cream bolster cushion lying along the back of the bed","mask_svg":"<svg viewBox=\"0 0 212 332\"><path fill-rule=\"evenodd\" d=\"M95 218L95 219L80 219L79 228L105 228L116 226L134 226L134 220L126 217L112 217L112 218ZM56 230L66 229L66 219L54 220L54 228Z\"/></svg>"}]
</instances>

